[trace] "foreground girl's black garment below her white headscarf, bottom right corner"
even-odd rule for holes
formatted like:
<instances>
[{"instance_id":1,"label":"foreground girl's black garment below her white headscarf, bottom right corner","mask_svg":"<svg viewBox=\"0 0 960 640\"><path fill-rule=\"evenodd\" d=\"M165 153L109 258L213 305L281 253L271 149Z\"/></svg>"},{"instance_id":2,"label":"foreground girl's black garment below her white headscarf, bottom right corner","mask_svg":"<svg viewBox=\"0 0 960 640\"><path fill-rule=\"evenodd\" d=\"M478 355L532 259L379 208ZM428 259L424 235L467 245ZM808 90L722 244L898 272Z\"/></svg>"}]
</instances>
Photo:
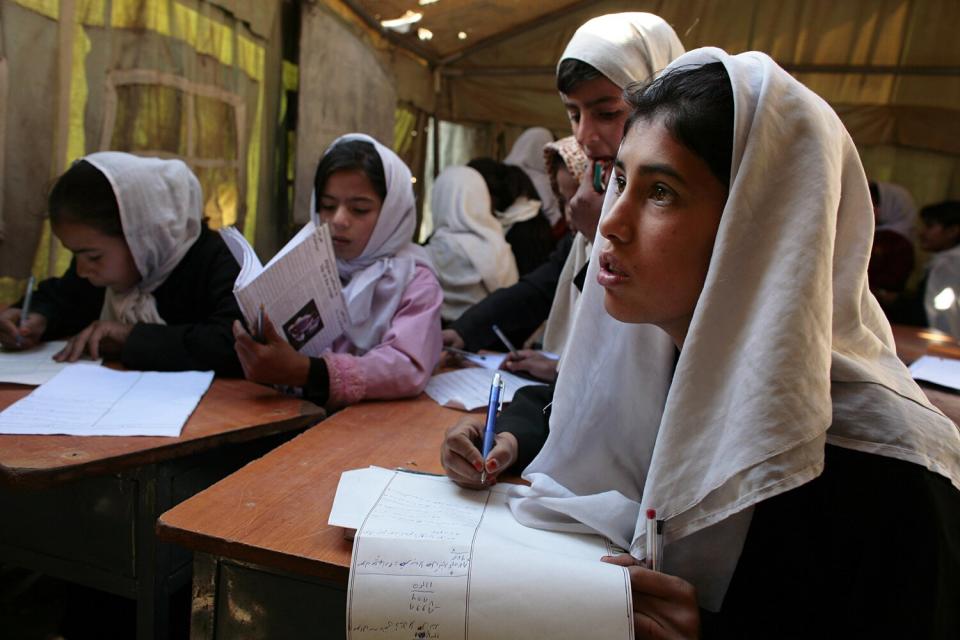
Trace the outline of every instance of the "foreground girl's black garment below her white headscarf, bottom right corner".
<instances>
[{"instance_id":1,"label":"foreground girl's black garment below her white headscarf, bottom right corner","mask_svg":"<svg viewBox=\"0 0 960 640\"><path fill-rule=\"evenodd\" d=\"M820 477L754 508L702 636L960 638L958 602L960 491L920 465L828 445Z\"/></svg>"}]
</instances>

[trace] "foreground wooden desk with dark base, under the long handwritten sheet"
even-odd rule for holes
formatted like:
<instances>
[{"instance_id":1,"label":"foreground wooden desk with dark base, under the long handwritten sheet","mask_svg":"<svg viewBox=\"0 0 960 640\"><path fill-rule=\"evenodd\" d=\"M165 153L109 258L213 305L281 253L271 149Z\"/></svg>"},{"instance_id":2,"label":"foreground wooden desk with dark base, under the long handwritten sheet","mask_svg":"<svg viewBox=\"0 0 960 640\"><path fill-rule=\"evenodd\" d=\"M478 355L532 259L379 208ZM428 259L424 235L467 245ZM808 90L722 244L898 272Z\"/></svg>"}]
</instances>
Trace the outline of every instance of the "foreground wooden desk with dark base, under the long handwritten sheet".
<instances>
[{"instance_id":1,"label":"foreground wooden desk with dark base, under the long handwritten sheet","mask_svg":"<svg viewBox=\"0 0 960 640\"><path fill-rule=\"evenodd\" d=\"M342 637L352 543L327 525L340 474L442 473L443 434L463 415L426 395L361 403L160 516L160 539L201 552L191 637Z\"/></svg>"}]
</instances>

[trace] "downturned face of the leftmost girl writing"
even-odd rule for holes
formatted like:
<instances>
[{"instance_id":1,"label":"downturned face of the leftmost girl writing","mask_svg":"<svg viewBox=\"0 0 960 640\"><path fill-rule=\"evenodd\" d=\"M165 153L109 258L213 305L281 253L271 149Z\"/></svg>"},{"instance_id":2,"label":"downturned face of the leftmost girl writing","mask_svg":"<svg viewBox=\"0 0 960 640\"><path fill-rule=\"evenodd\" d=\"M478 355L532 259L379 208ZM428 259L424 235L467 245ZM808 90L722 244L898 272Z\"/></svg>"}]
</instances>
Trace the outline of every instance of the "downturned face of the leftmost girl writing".
<instances>
[{"instance_id":1,"label":"downturned face of the leftmost girl writing","mask_svg":"<svg viewBox=\"0 0 960 640\"><path fill-rule=\"evenodd\" d=\"M77 259L77 275L95 287L125 293L140 282L133 254L122 237L108 236L91 226L61 221L53 233Z\"/></svg>"}]
</instances>

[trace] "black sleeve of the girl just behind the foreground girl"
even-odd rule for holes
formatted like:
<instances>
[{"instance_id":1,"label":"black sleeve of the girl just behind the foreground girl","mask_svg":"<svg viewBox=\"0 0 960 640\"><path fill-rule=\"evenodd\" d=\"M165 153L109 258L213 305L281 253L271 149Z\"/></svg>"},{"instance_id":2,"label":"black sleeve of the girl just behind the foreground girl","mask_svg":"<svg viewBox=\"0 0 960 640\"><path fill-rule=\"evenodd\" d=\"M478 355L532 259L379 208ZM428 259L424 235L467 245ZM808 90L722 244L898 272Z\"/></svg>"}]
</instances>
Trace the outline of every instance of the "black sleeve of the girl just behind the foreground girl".
<instances>
[{"instance_id":1,"label":"black sleeve of the girl just behind the foreground girl","mask_svg":"<svg viewBox=\"0 0 960 640\"><path fill-rule=\"evenodd\" d=\"M547 262L523 276L517 284L497 289L457 318L450 328L460 334L467 350L503 349L490 329L493 325L499 326L514 344L523 344L550 314L560 273L572 245L573 236L564 236Z\"/></svg>"}]
</instances>

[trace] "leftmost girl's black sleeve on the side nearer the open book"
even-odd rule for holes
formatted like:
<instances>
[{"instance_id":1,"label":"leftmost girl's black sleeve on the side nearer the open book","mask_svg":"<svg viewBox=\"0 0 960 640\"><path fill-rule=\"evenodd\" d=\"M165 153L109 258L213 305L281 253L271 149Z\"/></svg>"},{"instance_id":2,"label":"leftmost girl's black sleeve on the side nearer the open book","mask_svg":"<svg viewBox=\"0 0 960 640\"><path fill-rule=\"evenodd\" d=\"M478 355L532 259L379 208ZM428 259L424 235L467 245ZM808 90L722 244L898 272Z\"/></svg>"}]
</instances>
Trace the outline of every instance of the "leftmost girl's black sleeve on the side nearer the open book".
<instances>
[{"instance_id":1,"label":"leftmost girl's black sleeve on the side nearer the open book","mask_svg":"<svg viewBox=\"0 0 960 640\"><path fill-rule=\"evenodd\" d=\"M242 377L232 325L242 314L233 296L240 267L220 235L206 228L154 297L167 324L138 323L121 361L130 369L213 370Z\"/></svg>"}]
</instances>

